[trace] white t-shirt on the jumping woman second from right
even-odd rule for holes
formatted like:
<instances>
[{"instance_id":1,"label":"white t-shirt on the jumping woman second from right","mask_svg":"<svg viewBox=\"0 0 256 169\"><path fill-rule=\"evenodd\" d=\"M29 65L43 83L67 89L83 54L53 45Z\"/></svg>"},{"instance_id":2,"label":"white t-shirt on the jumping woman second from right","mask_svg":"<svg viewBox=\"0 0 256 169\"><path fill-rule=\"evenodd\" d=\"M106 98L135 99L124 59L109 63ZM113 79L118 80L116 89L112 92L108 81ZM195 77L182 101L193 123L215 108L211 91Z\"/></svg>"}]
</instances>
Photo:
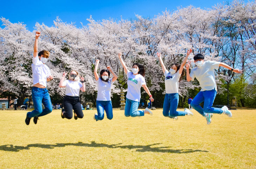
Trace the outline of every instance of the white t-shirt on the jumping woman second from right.
<instances>
[{"instance_id":1,"label":"white t-shirt on the jumping woman second from right","mask_svg":"<svg viewBox=\"0 0 256 169\"><path fill-rule=\"evenodd\" d=\"M167 77L168 76L168 77ZM178 80L181 77L179 71L171 74L169 71L164 72L164 84L166 93L178 93Z\"/></svg>"}]
</instances>

